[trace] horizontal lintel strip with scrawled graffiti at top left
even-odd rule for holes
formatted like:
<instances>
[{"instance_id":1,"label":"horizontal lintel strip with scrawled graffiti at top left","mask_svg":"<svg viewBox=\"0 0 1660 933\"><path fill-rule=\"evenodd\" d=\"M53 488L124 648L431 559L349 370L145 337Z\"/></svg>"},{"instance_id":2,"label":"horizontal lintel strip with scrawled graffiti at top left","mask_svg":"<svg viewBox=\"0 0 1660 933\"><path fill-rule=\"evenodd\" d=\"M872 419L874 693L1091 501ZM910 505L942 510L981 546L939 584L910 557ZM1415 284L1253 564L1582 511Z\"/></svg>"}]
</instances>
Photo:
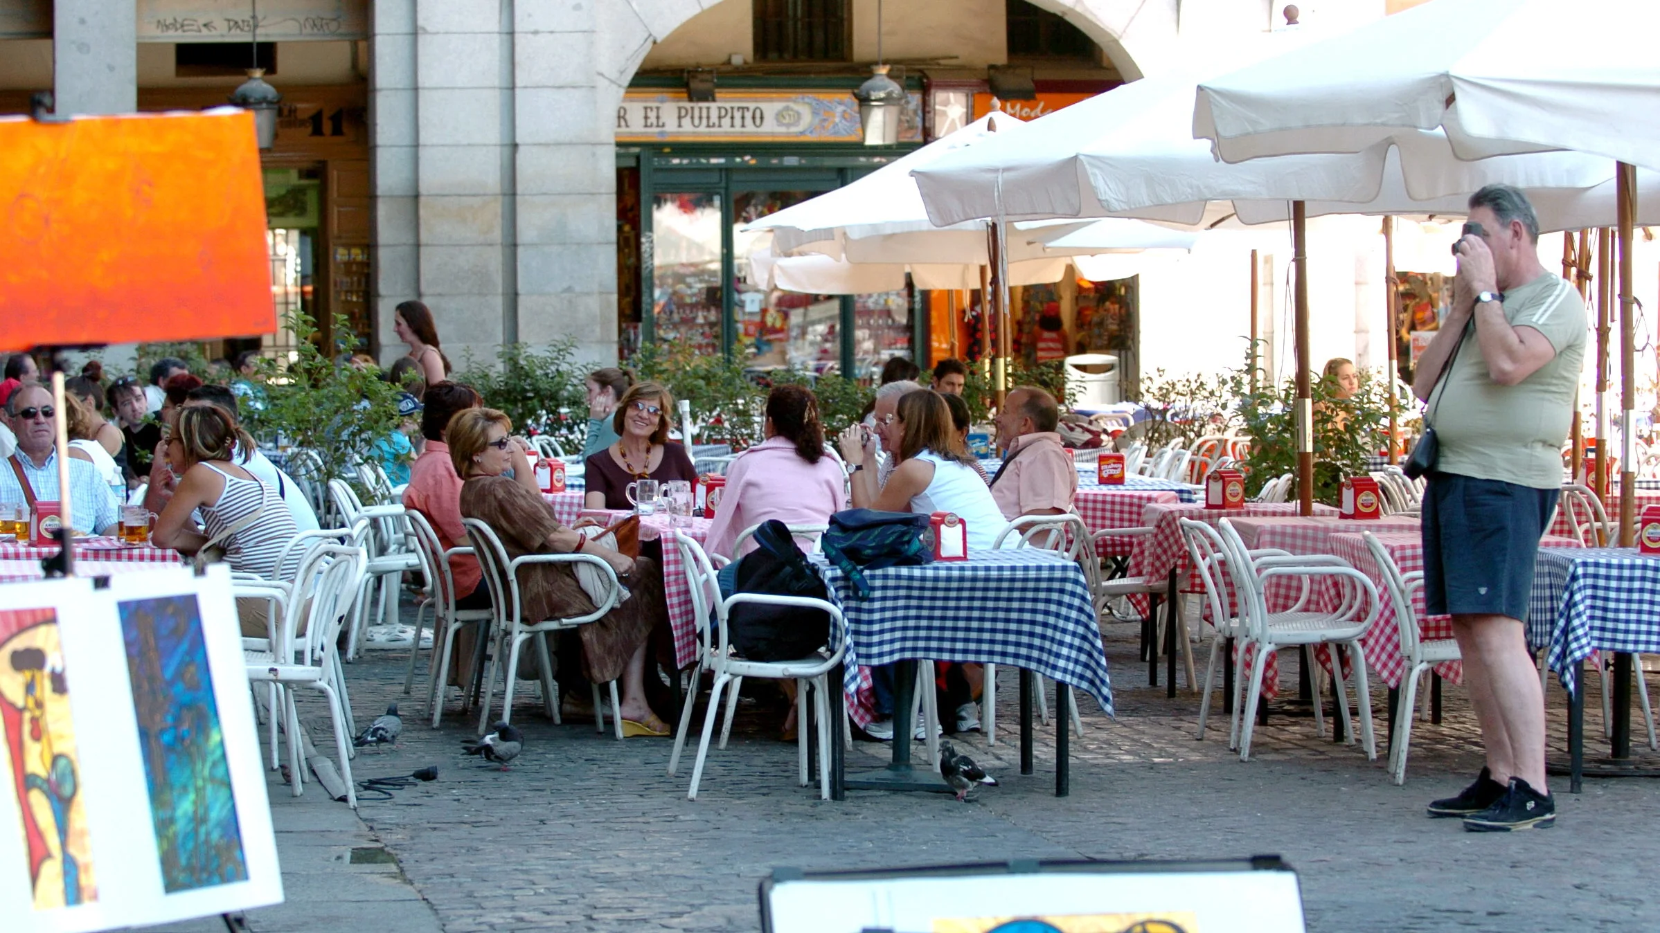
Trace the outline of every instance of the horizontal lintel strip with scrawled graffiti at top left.
<instances>
[{"instance_id":1,"label":"horizontal lintel strip with scrawled graffiti at top left","mask_svg":"<svg viewBox=\"0 0 1660 933\"><path fill-rule=\"evenodd\" d=\"M138 0L138 42L249 42L254 17L212 0ZM369 38L364 0L264 0L259 40Z\"/></svg>"}]
</instances>

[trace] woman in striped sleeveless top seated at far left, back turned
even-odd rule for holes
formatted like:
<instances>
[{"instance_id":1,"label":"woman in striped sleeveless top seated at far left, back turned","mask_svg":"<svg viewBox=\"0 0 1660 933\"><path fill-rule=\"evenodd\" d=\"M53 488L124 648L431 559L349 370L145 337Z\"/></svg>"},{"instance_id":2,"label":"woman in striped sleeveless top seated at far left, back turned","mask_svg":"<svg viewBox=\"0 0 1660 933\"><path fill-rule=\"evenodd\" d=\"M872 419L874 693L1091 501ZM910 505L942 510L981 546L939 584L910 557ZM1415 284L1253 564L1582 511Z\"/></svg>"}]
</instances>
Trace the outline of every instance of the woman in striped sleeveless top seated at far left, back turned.
<instances>
[{"instance_id":1,"label":"woman in striped sleeveless top seated at far left, back turned","mask_svg":"<svg viewBox=\"0 0 1660 933\"><path fill-rule=\"evenodd\" d=\"M179 408L178 428L168 438L166 450L173 471L183 478L173 500L156 518L151 543L194 554L229 531L221 546L231 569L289 579L299 564L300 548L290 550L282 566L277 566L277 558L299 536L299 528L277 491L232 462L237 443L254 447L247 432L224 408ZM191 521L196 510L203 516L201 530ZM239 603L237 609L242 634L266 634L264 603Z\"/></svg>"}]
</instances>

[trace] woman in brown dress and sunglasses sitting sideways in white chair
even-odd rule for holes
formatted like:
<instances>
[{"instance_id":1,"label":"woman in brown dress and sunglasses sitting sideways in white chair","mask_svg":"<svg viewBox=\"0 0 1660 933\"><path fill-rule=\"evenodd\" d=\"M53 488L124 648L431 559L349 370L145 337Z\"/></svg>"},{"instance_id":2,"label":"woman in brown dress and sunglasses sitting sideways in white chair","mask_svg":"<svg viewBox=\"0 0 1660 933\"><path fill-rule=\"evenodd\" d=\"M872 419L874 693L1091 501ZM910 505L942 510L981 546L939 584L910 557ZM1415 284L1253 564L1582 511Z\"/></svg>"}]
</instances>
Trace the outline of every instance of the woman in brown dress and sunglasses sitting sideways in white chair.
<instances>
[{"instance_id":1,"label":"woman in brown dress and sunglasses sitting sideways in white chair","mask_svg":"<svg viewBox=\"0 0 1660 933\"><path fill-rule=\"evenodd\" d=\"M466 408L450 420L445 438L455 471L465 480L461 515L490 525L510 561L583 551L611 564L631 596L599 621L578 628L584 669L594 684L621 681L622 735L667 735L669 727L651 711L644 689L646 641L654 626L667 621L662 573L652 561L588 543L559 525L540 493L503 476L510 466L516 475L526 470L523 453L508 437L511 430L508 417L495 408ZM571 564L525 566L518 583L526 623L594 611Z\"/></svg>"}]
</instances>

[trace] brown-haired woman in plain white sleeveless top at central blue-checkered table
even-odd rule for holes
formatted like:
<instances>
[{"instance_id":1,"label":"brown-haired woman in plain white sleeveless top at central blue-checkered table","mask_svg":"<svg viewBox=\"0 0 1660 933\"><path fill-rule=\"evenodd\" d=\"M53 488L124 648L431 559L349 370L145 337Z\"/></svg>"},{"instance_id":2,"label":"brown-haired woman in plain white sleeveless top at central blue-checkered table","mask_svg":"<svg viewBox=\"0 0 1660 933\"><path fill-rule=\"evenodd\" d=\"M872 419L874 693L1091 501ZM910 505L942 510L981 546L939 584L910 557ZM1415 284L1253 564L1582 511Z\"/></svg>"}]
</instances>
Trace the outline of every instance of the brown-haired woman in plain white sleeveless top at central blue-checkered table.
<instances>
[{"instance_id":1,"label":"brown-haired woman in plain white sleeveless top at central blue-checkered table","mask_svg":"<svg viewBox=\"0 0 1660 933\"><path fill-rule=\"evenodd\" d=\"M951 511L968 523L968 550L989 551L1008 525L991 490L973 466L951 423L945 398L931 388L900 397L893 433L898 466L885 486L876 485L876 442L862 445L858 428L840 438L842 455L853 470L853 508L930 515Z\"/></svg>"}]
</instances>

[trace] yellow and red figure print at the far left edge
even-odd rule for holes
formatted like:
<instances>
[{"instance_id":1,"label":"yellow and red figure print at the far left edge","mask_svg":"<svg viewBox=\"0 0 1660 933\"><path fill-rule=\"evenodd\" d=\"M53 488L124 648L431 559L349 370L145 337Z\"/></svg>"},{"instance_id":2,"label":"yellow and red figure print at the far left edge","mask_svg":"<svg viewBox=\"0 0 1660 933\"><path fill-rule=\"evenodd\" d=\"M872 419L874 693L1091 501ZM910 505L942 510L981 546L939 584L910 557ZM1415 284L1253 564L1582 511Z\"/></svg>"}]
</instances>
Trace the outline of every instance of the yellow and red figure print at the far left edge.
<instances>
[{"instance_id":1,"label":"yellow and red figure print at the far left edge","mask_svg":"<svg viewBox=\"0 0 1660 933\"><path fill-rule=\"evenodd\" d=\"M56 609L0 611L0 734L35 910L96 900Z\"/></svg>"}]
</instances>

